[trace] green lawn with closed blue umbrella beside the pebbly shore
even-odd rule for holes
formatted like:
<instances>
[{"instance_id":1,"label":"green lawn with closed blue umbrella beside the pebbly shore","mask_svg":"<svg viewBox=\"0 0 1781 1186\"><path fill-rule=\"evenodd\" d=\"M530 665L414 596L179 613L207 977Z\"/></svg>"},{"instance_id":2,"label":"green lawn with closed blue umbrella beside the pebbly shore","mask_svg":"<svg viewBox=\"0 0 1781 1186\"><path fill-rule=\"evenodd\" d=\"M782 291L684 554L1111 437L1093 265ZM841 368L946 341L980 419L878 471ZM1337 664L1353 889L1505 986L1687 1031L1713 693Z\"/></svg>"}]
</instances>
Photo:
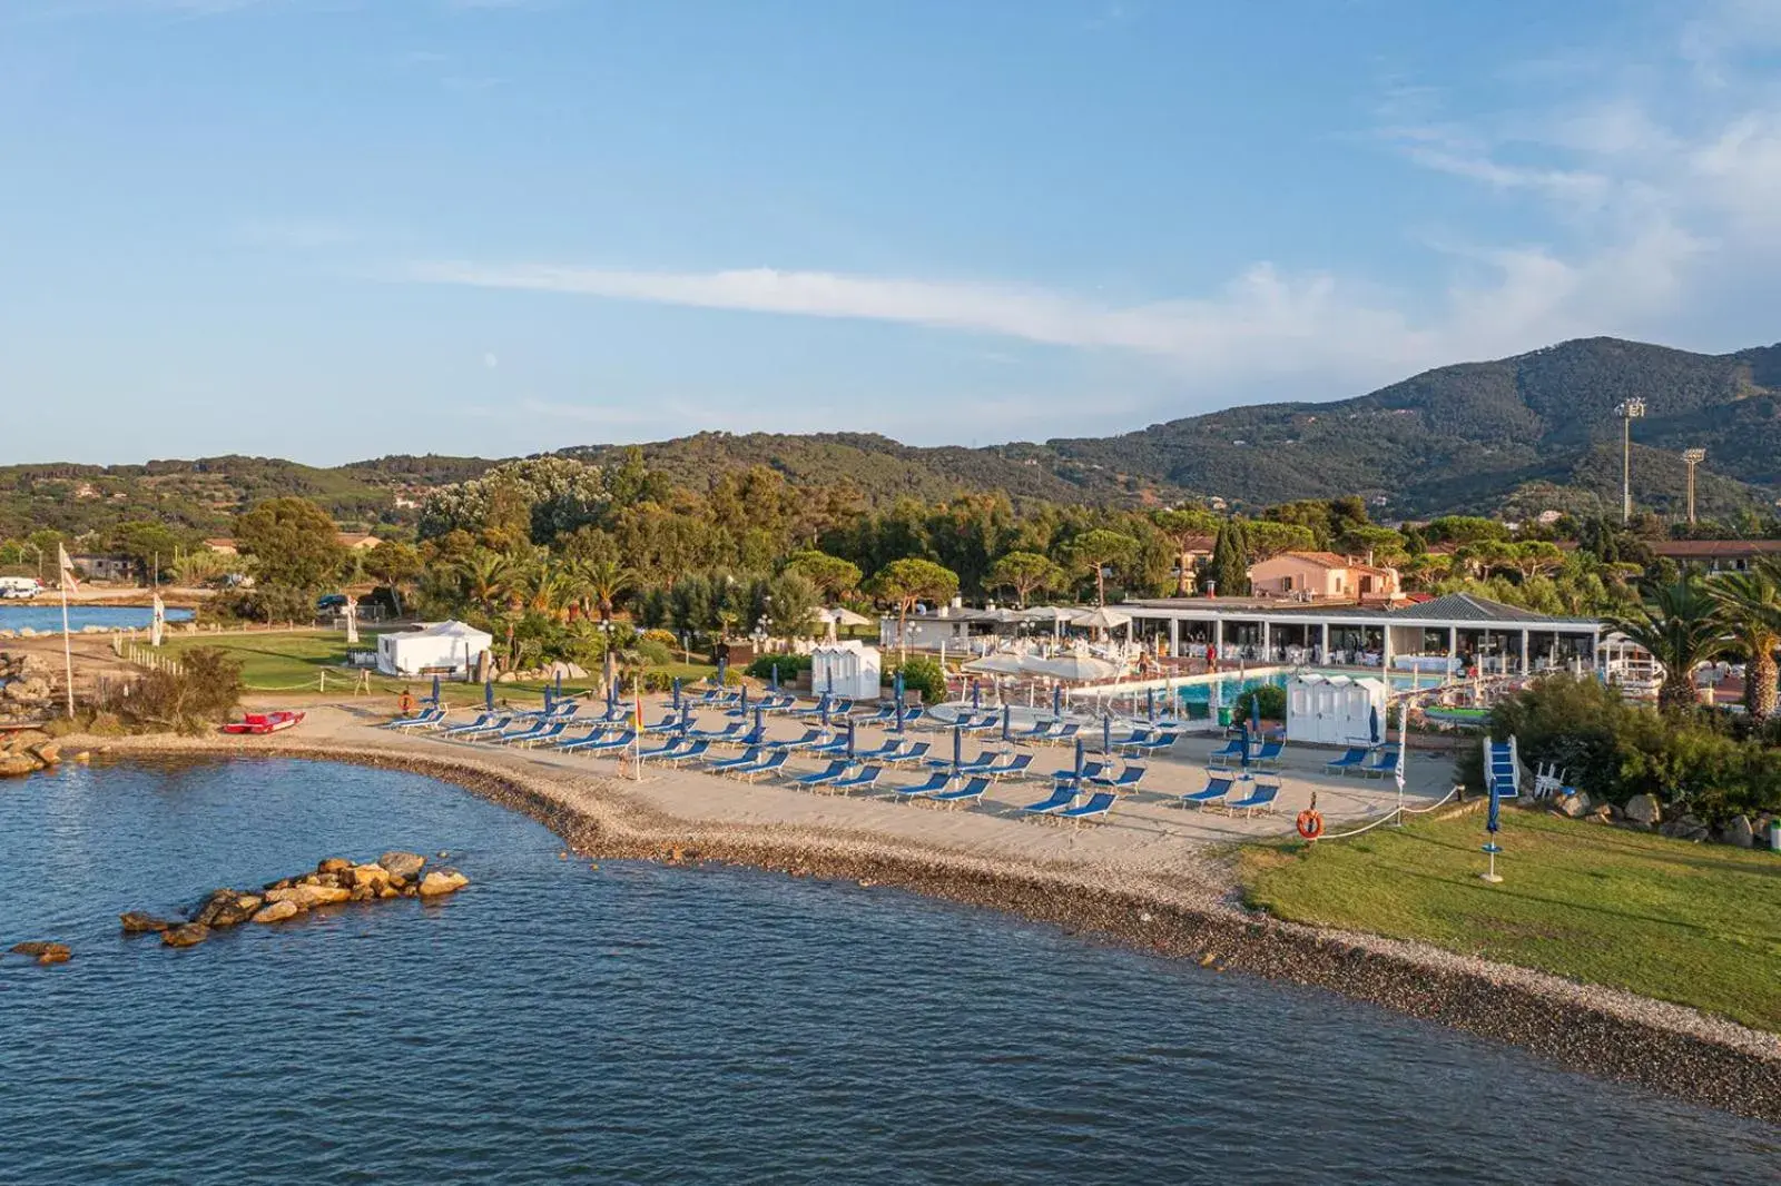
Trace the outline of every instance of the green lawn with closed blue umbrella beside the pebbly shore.
<instances>
[{"instance_id":1,"label":"green lawn with closed blue umbrella beside the pebbly shore","mask_svg":"<svg viewBox=\"0 0 1781 1186\"><path fill-rule=\"evenodd\" d=\"M1250 846L1250 905L1692 1004L1781 1031L1781 855L1503 810L1354 841Z\"/></svg>"}]
</instances>

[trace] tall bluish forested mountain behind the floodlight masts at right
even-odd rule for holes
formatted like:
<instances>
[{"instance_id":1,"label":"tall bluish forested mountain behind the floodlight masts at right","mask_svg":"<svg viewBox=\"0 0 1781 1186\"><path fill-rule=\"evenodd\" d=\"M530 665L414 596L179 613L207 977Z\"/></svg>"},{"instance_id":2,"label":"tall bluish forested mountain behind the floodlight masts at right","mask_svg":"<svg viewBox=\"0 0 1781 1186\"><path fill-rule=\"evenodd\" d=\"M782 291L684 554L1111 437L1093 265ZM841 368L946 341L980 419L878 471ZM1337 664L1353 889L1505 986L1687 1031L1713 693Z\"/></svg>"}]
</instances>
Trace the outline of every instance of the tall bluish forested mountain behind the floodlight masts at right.
<instances>
[{"instance_id":1,"label":"tall bluish forested mountain behind the floodlight masts at right","mask_svg":"<svg viewBox=\"0 0 1781 1186\"><path fill-rule=\"evenodd\" d=\"M1644 506L1681 499L1685 447L1708 452L1704 504L1729 508L1781 486L1781 345L1690 354L1583 338L1441 367L1355 399L1231 408L1049 449L1241 502L1361 493L1393 515L1617 502L1614 408L1626 399L1646 401L1633 426Z\"/></svg>"}]
</instances>

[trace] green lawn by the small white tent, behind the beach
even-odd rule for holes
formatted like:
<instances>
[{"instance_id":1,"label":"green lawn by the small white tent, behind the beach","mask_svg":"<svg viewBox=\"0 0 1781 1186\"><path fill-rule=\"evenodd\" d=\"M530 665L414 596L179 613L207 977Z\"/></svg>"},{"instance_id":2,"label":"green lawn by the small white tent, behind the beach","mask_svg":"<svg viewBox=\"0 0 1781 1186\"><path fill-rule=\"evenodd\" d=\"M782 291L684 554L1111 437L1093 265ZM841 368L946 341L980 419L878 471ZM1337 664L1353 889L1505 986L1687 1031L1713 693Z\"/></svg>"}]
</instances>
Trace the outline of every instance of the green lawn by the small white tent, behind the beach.
<instances>
[{"instance_id":1,"label":"green lawn by the small white tent, behind the beach","mask_svg":"<svg viewBox=\"0 0 1781 1186\"><path fill-rule=\"evenodd\" d=\"M376 646L376 634L363 632L360 646ZM166 652L178 657L182 650L194 646L216 646L228 657L240 662L240 677L248 691L317 691L321 673L328 671L328 691L347 693L358 680L358 670L346 666L346 641L342 634L221 634L216 638L169 638ZM670 662L661 668L668 677L680 677L684 684L705 678L716 668L702 662ZM582 693L597 687L598 680L566 680L565 693ZM403 689L417 696L431 691L431 678L397 678L390 675L370 675L370 689L376 695L394 696ZM443 684L445 702L451 705L472 705L483 702L481 684ZM495 695L502 700L541 700L543 684L497 684Z\"/></svg>"}]
</instances>

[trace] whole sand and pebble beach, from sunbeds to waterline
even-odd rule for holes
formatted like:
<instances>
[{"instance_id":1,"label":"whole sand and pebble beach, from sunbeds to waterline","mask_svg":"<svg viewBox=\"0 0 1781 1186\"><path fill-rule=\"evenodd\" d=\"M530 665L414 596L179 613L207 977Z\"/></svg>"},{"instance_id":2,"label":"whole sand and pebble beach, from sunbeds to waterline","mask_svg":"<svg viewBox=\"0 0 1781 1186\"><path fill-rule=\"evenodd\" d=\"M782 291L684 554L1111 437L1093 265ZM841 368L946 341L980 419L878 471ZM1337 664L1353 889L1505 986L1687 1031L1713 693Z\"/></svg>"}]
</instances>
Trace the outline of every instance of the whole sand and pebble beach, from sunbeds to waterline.
<instances>
[{"instance_id":1,"label":"whole sand and pebble beach, from sunbeds to waterline","mask_svg":"<svg viewBox=\"0 0 1781 1186\"><path fill-rule=\"evenodd\" d=\"M119 759L262 753L411 769L531 814L586 858L734 862L1006 910L1220 971L1329 988L1510 1042L1574 1070L1781 1122L1781 1036L1614 988L1243 908L1231 869L1234 842L1282 835L1313 791L1332 830L1377 817L1395 800L1389 782L1341 785L1322 776L1322 751L1305 751L1281 771L1286 801L1277 816L1232 819L1170 801L1204 782L1200 759L1209 741L1184 739L1183 753L1152 764L1147 791L1122 801L1106 825L1069 826L1017 810L1044 798L1049 780L999 785L983 807L951 810L885 792L842 798L744 785L693 769L645 766L643 778L632 780L611 759L378 728L385 707L317 703L299 730L272 737L69 744ZM647 707L645 716L657 712ZM798 723L777 721L773 730L794 735ZM949 755L949 735L921 735ZM860 730L862 746L876 739L874 730ZM967 744L967 755L974 750ZM1049 771L1072 757L1061 748L1040 751L1035 766ZM1448 769L1444 757L1412 753L1411 798L1432 803L1444 794Z\"/></svg>"}]
</instances>

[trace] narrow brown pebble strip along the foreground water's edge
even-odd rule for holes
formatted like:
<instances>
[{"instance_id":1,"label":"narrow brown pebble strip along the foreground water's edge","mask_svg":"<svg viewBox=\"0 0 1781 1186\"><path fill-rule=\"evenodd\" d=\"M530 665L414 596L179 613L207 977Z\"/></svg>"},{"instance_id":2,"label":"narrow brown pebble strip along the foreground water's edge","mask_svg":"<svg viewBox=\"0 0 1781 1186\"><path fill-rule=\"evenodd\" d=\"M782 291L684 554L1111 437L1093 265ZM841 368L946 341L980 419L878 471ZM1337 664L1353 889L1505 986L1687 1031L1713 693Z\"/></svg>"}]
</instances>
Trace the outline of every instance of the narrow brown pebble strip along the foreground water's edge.
<instances>
[{"instance_id":1,"label":"narrow brown pebble strip along the foreground water's edge","mask_svg":"<svg viewBox=\"0 0 1781 1186\"><path fill-rule=\"evenodd\" d=\"M1284 922L1168 873L972 855L853 828L686 819L597 773L356 739L68 737L103 757L289 757L394 768L520 810L579 857L737 864L999 910L1177 960L1338 992L1546 1061L1781 1124L1781 1035L1428 944ZM379 739L381 741L381 739Z\"/></svg>"}]
</instances>

